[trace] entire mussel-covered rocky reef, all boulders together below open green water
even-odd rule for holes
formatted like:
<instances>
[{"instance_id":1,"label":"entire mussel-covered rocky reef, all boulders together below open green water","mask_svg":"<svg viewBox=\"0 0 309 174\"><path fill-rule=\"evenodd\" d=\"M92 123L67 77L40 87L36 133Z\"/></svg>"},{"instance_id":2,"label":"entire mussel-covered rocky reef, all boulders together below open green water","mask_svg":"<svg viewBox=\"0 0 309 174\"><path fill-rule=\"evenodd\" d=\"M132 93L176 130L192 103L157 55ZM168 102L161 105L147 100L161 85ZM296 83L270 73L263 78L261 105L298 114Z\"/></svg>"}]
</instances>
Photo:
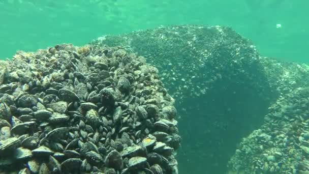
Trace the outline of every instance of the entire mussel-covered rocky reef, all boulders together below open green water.
<instances>
[{"instance_id":1,"label":"entire mussel-covered rocky reef, all boulders together below open green water","mask_svg":"<svg viewBox=\"0 0 309 174\"><path fill-rule=\"evenodd\" d=\"M308 76L222 26L19 51L0 62L0 172L307 173Z\"/></svg>"}]
</instances>

